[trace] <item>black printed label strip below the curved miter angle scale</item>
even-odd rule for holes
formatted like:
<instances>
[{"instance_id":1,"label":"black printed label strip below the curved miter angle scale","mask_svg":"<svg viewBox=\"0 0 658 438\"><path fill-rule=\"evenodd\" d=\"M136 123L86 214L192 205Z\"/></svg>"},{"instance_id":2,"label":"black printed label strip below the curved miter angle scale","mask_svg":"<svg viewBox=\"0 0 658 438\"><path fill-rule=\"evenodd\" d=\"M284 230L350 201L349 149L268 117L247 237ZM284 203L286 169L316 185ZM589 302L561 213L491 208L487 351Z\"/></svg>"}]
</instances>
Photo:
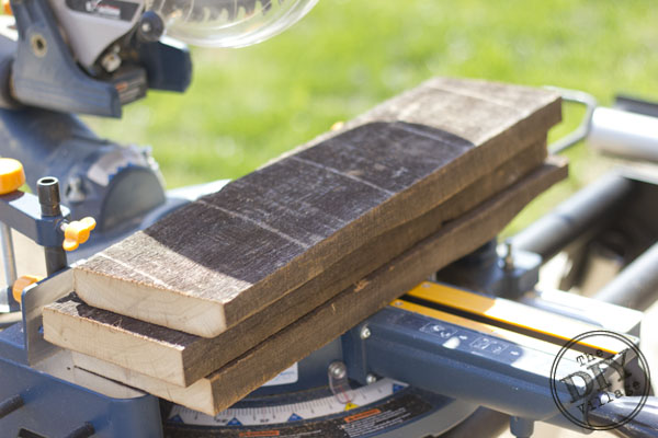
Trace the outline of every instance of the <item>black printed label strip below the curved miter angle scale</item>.
<instances>
[{"instance_id":1,"label":"black printed label strip below the curved miter angle scale","mask_svg":"<svg viewBox=\"0 0 658 438\"><path fill-rule=\"evenodd\" d=\"M279 427L222 427L194 428L195 437L208 438L246 438L246 437L277 437L277 438L360 438L371 434L383 433L404 426L406 423L429 414L433 406L419 394L408 391L399 396L389 399L382 404L364 407L363 411L352 410L344 416L330 419L294 422ZM236 425L239 426L239 425ZM166 438L189 438L192 429L185 430L185 425L167 423Z\"/></svg>"}]
</instances>

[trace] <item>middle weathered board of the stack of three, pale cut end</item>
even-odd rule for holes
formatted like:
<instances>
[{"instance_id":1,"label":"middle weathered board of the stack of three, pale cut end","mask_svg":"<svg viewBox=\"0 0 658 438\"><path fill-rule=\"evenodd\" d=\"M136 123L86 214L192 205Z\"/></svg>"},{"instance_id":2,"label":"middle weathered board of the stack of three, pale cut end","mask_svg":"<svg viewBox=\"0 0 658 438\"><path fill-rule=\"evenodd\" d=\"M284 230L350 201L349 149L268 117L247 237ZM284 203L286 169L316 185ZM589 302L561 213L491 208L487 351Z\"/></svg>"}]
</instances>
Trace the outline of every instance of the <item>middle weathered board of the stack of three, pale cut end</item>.
<instances>
[{"instance_id":1,"label":"middle weathered board of the stack of three, pale cut end","mask_svg":"<svg viewBox=\"0 0 658 438\"><path fill-rule=\"evenodd\" d=\"M214 338L146 323L73 299L44 311L45 338L124 368L178 385L189 385L279 332L443 223L469 211L542 165L545 140L447 199L441 206L377 237L281 300Z\"/></svg>"}]
</instances>

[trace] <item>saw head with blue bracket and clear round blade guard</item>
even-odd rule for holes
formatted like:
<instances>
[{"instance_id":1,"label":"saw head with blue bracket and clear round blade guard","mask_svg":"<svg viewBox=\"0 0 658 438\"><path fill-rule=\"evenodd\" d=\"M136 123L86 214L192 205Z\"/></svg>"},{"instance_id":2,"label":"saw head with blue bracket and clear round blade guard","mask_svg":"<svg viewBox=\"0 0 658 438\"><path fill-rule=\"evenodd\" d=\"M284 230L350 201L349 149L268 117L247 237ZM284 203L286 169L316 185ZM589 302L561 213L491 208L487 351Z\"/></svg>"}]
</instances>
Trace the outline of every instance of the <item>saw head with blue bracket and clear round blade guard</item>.
<instances>
[{"instance_id":1,"label":"saw head with blue bracket and clear round blade guard","mask_svg":"<svg viewBox=\"0 0 658 438\"><path fill-rule=\"evenodd\" d=\"M2 32L0 106L121 117L122 106L148 89L189 87L190 54L171 37L247 46L283 32L316 2L11 0L15 24Z\"/></svg>"}]
</instances>

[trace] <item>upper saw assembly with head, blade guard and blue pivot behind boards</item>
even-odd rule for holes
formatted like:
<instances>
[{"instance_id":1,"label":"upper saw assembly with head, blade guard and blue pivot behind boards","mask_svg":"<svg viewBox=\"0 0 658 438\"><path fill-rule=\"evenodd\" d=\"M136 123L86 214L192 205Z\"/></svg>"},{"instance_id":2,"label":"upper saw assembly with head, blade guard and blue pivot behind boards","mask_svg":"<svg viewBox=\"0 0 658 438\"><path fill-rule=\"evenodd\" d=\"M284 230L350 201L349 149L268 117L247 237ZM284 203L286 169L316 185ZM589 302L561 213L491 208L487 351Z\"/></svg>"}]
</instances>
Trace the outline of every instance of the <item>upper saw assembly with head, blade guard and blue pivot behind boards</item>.
<instances>
[{"instance_id":1,"label":"upper saw assembly with head, blade guard and blue pivot behind boards","mask_svg":"<svg viewBox=\"0 0 658 438\"><path fill-rule=\"evenodd\" d=\"M256 44L316 2L11 0L15 22L4 16L0 28L0 155L23 163L32 191L57 177L73 219L99 218L87 247L106 245L184 200L166 194L148 148L100 139L75 114L118 118L148 89L184 92L192 60L174 37Z\"/></svg>"}]
</instances>

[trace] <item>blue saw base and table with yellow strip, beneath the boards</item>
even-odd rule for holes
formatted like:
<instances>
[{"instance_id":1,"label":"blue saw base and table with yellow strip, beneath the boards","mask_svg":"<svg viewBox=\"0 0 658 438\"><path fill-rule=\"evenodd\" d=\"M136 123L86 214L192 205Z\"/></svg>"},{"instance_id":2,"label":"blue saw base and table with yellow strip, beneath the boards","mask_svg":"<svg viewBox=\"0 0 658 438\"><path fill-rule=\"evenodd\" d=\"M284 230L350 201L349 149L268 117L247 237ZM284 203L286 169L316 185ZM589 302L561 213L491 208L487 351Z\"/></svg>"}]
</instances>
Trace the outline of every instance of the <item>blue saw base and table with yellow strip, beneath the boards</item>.
<instances>
[{"instance_id":1,"label":"blue saw base and table with yellow strip, beneath the boards","mask_svg":"<svg viewBox=\"0 0 658 438\"><path fill-rule=\"evenodd\" d=\"M537 268L532 257L524 266L523 257L519 270ZM48 280L48 288L66 275ZM86 424L103 423L98 422L100 415L122 418L94 429L107 437L424 437L452 428L484 405L575 428L557 411L548 384L551 364L564 339L601 326L634 339L642 314L581 297L571 302L570 297L537 295L521 304L423 283L216 416L158 403L112 383L106 379L112 379L112 369L104 378L86 372L86 361L93 359L65 350L33 366L21 365L23 339L12 326L1 333L2 376L14 377L3 385L3 394L20 394L21 401L12 406L13 399L5 399L2 426L46 427L52 434L44 436L67 436ZM578 321L560 315L559 308L585 308L589 314ZM38 339L32 345L36 351L44 347L47 344ZM11 357L15 361L8 361ZM570 360L577 367L577 358ZM27 387L35 392L25 393ZM58 399L75 400L76 405L87 401L80 405L84 408L66 410L63 417L52 415Z\"/></svg>"}]
</instances>

